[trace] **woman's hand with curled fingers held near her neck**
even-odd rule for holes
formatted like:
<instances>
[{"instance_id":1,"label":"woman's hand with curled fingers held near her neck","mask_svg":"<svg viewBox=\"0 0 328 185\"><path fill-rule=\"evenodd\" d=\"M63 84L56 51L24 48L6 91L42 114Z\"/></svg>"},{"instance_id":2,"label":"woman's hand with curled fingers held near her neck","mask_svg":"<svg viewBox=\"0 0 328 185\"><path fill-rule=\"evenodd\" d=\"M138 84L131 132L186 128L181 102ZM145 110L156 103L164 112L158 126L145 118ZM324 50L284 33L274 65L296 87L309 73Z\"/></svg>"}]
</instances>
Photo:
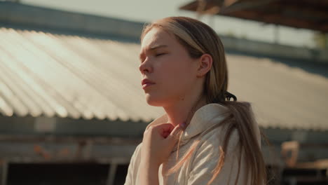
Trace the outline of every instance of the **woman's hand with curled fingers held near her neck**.
<instances>
[{"instance_id":1,"label":"woman's hand with curled fingers held near her neck","mask_svg":"<svg viewBox=\"0 0 328 185\"><path fill-rule=\"evenodd\" d=\"M182 130L182 125L174 126L171 123L161 123L151 125L145 130L141 151L143 162L158 167L164 163L179 139L178 134Z\"/></svg>"}]
</instances>

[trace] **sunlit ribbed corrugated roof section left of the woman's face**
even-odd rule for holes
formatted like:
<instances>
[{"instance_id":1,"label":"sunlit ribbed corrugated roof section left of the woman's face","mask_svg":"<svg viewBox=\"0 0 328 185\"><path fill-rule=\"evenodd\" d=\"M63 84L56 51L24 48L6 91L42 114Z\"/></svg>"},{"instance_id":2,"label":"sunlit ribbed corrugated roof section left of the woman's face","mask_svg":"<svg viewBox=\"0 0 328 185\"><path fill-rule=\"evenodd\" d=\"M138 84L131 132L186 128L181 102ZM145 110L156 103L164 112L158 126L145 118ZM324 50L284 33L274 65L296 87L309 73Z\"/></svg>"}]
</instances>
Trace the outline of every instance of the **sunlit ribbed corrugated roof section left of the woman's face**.
<instances>
[{"instance_id":1,"label":"sunlit ribbed corrugated roof section left of the woman's face","mask_svg":"<svg viewBox=\"0 0 328 185\"><path fill-rule=\"evenodd\" d=\"M150 121L163 111L144 100L138 53L135 43L1 28L0 111Z\"/></svg>"}]
</instances>

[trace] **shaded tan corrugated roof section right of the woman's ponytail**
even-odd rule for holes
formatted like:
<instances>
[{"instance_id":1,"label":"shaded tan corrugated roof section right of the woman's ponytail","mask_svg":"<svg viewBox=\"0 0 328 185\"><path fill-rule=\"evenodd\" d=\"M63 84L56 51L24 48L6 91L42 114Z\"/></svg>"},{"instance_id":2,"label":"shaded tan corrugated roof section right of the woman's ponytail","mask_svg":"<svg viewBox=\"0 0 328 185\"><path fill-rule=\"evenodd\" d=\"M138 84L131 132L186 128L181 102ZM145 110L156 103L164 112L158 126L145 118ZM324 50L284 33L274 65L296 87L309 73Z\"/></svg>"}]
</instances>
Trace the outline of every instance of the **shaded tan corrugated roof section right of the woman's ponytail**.
<instances>
[{"instance_id":1,"label":"shaded tan corrugated roof section right of the woman's ponytail","mask_svg":"<svg viewBox=\"0 0 328 185\"><path fill-rule=\"evenodd\" d=\"M269 58L228 55L230 91L264 128L328 129L328 78Z\"/></svg>"}]
</instances>

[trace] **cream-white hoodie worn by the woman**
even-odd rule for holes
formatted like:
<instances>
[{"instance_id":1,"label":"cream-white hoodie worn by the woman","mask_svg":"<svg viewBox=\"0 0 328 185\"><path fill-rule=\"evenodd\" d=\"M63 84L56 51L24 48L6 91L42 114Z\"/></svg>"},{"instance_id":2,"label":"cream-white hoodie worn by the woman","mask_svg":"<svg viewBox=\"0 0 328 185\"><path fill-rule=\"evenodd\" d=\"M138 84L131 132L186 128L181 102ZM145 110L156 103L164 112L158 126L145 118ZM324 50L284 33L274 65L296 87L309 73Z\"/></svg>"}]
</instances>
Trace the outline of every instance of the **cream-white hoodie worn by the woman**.
<instances>
[{"instance_id":1,"label":"cream-white hoodie worn by the woman","mask_svg":"<svg viewBox=\"0 0 328 185\"><path fill-rule=\"evenodd\" d=\"M165 172L177 163L177 144L175 145L175 148L170 154L168 160L165 163L162 163L159 167L158 179L160 185L205 185L208 181L210 181L212 178L212 170L214 170L217 165L217 161L219 160L219 146L223 145L224 132L226 130L225 125L220 125L219 127L214 126L224 120L224 118L226 118L229 114L230 111L227 107L214 103L206 104L195 112L193 118L191 118L191 122L184 130L184 133L182 133L178 160L180 160L182 156L184 156L184 153L188 151L193 144L193 141L200 139L200 143L196 147L196 151L193 152L190 158L190 163L184 163L184 165L182 165L176 173L170 174L169 176L164 176ZM150 125L167 122L168 117L164 114L149 123L147 128ZM200 136L201 133L208 130L209 132L203 136ZM254 130L256 131L259 146L261 146L258 125L256 125ZM238 140L238 132L237 130L233 130L228 142L224 166L212 184L235 184L238 174L238 156L241 154L239 147L237 147ZM142 185L138 183L141 147L142 143L137 146L132 155L130 165L128 167L128 174L125 179L125 185ZM238 185L250 184L245 182L247 173L243 169L245 169L245 158L242 154ZM175 175L177 175L176 179Z\"/></svg>"}]
</instances>

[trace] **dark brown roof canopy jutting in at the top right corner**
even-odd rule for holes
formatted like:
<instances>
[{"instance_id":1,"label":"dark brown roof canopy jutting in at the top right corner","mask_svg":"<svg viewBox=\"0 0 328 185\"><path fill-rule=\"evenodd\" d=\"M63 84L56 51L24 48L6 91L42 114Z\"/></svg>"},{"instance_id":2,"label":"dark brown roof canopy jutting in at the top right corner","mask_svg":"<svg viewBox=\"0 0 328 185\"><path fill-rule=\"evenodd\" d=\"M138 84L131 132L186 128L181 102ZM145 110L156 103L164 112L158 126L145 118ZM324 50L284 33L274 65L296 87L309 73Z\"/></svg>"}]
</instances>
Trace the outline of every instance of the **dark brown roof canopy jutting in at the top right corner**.
<instances>
[{"instance_id":1,"label":"dark brown roof canopy jutting in at the top right corner","mask_svg":"<svg viewBox=\"0 0 328 185\"><path fill-rule=\"evenodd\" d=\"M327 0L196 0L179 9L328 32Z\"/></svg>"}]
</instances>

